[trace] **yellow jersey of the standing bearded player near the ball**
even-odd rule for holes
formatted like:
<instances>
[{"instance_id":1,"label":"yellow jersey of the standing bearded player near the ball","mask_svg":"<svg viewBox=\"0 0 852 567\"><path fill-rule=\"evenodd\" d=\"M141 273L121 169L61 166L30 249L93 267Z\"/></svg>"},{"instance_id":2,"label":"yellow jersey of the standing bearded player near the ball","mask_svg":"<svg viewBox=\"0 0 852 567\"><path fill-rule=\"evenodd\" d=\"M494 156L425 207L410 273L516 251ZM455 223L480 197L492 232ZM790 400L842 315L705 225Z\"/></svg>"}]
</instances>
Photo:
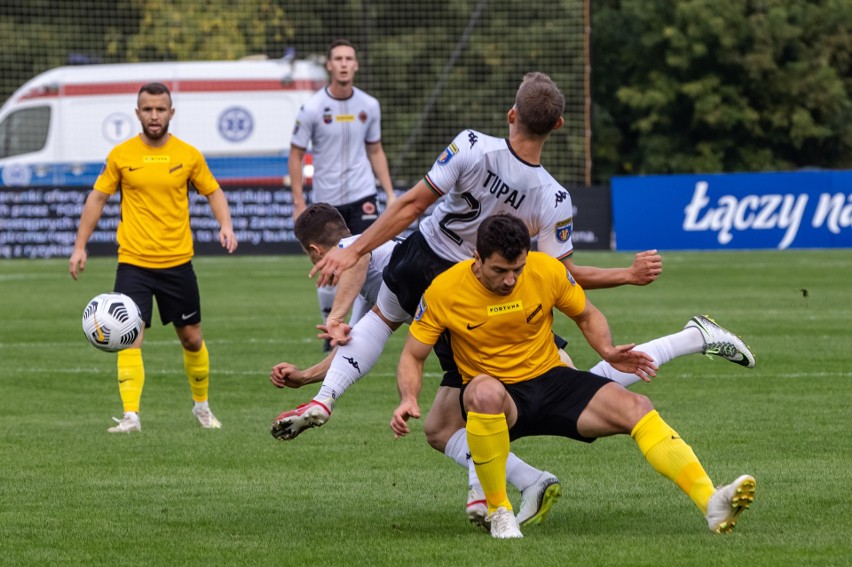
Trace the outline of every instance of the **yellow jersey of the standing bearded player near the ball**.
<instances>
[{"instance_id":1,"label":"yellow jersey of the standing bearded player near the ball","mask_svg":"<svg viewBox=\"0 0 852 567\"><path fill-rule=\"evenodd\" d=\"M121 190L119 262L170 268L192 258L190 181L201 195L219 188L201 152L174 136L160 148L140 136L113 148L94 188L108 195Z\"/></svg>"}]
</instances>

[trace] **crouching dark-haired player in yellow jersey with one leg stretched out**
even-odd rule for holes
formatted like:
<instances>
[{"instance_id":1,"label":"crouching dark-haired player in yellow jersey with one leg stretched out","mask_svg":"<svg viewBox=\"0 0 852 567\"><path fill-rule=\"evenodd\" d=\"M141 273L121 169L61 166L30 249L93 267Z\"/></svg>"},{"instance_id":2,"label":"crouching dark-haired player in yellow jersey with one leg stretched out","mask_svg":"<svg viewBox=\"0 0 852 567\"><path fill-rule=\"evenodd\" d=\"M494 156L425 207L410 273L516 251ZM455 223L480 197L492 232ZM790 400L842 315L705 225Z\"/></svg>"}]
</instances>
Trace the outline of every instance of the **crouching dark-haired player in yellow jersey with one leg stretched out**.
<instances>
[{"instance_id":1,"label":"crouching dark-haired player in yellow jersey with one leg stretched out","mask_svg":"<svg viewBox=\"0 0 852 567\"><path fill-rule=\"evenodd\" d=\"M462 374L467 441L497 538L523 537L506 494L510 439L558 435L592 442L629 433L660 474L675 482L716 533L733 529L754 500L755 480L742 475L714 490L692 449L645 396L602 376L566 366L553 343L553 309L573 319L588 343L622 372L654 376L653 358L635 345L612 344L604 315L558 260L530 252L529 231L515 216L487 218L474 259L436 277L423 294L399 362L397 436L420 417L423 365L441 334L453 337Z\"/></svg>"}]
</instances>

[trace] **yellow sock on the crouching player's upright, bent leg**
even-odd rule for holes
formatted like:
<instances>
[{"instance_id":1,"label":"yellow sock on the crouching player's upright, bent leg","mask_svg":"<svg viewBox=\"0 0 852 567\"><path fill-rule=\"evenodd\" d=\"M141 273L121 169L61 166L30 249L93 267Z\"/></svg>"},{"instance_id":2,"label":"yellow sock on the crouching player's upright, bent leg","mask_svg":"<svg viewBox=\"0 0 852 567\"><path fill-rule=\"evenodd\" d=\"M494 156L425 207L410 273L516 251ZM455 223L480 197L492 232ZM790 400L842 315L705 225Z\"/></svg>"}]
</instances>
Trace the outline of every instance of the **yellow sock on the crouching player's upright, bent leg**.
<instances>
[{"instance_id":1,"label":"yellow sock on the crouching player's upright, bent leg","mask_svg":"<svg viewBox=\"0 0 852 567\"><path fill-rule=\"evenodd\" d=\"M506 460L509 458L506 416L468 412L467 445L488 502L488 513L500 506L511 510L512 503L506 494Z\"/></svg>"}]
</instances>

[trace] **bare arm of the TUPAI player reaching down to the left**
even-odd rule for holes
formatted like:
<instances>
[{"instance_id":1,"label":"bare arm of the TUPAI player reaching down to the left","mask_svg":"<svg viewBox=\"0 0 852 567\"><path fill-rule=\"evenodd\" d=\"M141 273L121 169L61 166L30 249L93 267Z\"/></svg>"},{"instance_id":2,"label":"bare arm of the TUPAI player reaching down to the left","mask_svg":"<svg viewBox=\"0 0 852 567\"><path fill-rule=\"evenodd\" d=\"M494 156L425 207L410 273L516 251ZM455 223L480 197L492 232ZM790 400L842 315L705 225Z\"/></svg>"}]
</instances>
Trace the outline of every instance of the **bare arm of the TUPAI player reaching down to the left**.
<instances>
[{"instance_id":1,"label":"bare arm of the TUPAI player reaching down to the left","mask_svg":"<svg viewBox=\"0 0 852 567\"><path fill-rule=\"evenodd\" d=\"M314 265L310 277L319 274L317 286L336 284L337 276L354 266L358 258L403 232L437 200L438 194L421 179L379 215L358 240L346 248L330 250Z\"/></svg>"}]
</instances>

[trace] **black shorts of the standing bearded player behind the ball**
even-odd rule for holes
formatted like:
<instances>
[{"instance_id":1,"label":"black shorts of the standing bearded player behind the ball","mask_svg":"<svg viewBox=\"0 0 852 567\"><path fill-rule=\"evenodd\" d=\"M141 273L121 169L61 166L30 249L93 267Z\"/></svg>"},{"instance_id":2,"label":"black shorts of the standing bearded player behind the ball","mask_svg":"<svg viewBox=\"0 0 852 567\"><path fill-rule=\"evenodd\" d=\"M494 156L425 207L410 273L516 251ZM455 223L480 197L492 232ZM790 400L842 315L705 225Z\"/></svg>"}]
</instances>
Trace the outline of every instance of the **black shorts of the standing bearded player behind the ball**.
<instances>
[{"instance_id":1,"label":"black shorts of the standing bearded player behind the ball","mask_svg":"<svg viewBox=\"0 0 852 567\"><path fill-rule=\"evenodd\" d=\"M119 264L114 290L136 302L146 328L151 326L155 297L163 325L174 323L175 327L185 327L201 322L201 298L192 262L173 268Z\"/></svg>"}]
</instances>

